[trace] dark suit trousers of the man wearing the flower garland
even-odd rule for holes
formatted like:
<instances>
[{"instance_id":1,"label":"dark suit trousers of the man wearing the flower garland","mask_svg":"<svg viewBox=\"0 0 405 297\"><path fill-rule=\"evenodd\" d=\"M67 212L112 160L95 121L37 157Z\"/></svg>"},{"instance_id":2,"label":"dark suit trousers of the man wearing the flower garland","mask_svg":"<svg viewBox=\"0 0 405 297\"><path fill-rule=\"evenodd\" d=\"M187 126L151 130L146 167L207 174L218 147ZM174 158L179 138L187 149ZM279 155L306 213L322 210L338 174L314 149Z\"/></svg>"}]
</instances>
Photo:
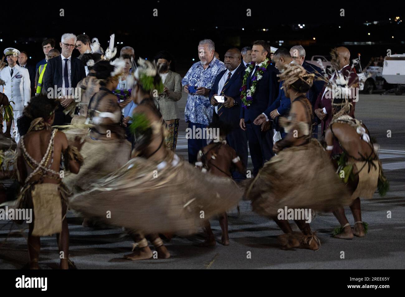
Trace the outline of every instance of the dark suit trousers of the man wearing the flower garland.
<instances>
[{"instance_id":1,"label":"dark suit trousers of the man wearing the flower garland","mask_svg":"<svg viewBox=\"0 0 405 297\"><path fill-rule=\"evenodd\" d=\"M273 154L273 137L271 129L262 132L262 125L246 124L247 141L249 141L250 157L253 163L253 175L257 175L264 162Z\"/></svg>"}]
</instances>

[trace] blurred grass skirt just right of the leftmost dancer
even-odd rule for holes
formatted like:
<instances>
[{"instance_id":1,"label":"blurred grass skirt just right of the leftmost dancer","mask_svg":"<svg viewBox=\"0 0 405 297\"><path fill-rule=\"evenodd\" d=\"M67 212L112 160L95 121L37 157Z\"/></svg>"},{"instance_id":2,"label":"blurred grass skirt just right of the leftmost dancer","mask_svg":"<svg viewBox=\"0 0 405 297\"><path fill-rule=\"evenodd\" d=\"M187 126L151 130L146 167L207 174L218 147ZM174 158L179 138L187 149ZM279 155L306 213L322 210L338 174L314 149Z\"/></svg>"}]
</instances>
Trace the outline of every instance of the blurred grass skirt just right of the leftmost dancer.
<instances>
[{"instance_id":1,"label":"blurred grass skirt just right of the leftmost dancer","mask_svg":"<svg viewBox=\"0 0 405 297\"><path fill-rule=\"evenodd\" d=\"M66 172L63 178L63 182L73 193L86 190L92 183L128 162L131 143L125 139L94 140L87 136L80 154L83 156L83 165L79 173Z\"/></svg>"}]
</instances>

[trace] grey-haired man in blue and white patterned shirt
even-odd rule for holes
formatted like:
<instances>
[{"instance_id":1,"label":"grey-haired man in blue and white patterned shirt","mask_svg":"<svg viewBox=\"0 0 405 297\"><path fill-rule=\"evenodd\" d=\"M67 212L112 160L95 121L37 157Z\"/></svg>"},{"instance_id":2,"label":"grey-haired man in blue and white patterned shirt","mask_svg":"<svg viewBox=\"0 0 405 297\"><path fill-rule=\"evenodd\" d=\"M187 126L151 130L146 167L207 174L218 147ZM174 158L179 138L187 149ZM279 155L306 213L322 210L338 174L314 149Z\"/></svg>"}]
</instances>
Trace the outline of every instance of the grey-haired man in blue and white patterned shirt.
<instances>
[{"instance_id":1,"label":"grey-haired man in blue and white patterned shirt","mask_svg":"<svg viewBox=\"0 0 405 297\"><path fill-rule=\"evenodd\" d=\"M198 44L200 62L194 63L181 80L184 91L188 93L184 116L188 122L188 131L192 133L191 137L187 137L188 162L192 164L197 161L198 151L207 145L203 130L211 121L213 112L213 105L208 97L209 91L217 74L225 70L224 63L214 57L214 52L215 44L212 40L201 40ZM192 87L196 87L195 92L191 92Z\"/></svg>"}]
</instances>

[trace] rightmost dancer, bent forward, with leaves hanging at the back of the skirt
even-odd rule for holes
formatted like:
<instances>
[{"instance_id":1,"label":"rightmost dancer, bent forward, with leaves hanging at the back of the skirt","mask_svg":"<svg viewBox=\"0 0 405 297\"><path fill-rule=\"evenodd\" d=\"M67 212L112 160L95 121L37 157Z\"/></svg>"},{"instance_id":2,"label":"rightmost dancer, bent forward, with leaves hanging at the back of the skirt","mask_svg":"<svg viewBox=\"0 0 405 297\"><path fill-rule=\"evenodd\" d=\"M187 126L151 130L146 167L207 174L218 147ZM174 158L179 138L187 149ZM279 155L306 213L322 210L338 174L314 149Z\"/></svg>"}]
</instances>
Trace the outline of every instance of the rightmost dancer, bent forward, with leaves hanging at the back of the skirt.
<instances>
[{"instance_id":1,"label":"rightmost dancer, bent forward, with leaves hanging at the back of the skirt","mask_svg":"<svg viewBox=\"0 0 405 297\"><path fill-rule=\"evenodd\" d=\"M367 231L364 228L367 224L361 219L360 197L373 198L377 187L379 194L384 196L388 190L388 181L384 177L369 130L362 121L349 115L353 106L345 94L344 90L347 88L338 84L335 88L341 88L343 96L332 101L333 120L325 133L328 145L326 151L335 159L333 163L337 173L352 194L349 204L355 223L354 228L351 228L343 206L339 206L333 214L341 224L341 228L335 231L337 234L334 237L352 239L353 236L364 237Z\"/></svg>"}]
</instances>

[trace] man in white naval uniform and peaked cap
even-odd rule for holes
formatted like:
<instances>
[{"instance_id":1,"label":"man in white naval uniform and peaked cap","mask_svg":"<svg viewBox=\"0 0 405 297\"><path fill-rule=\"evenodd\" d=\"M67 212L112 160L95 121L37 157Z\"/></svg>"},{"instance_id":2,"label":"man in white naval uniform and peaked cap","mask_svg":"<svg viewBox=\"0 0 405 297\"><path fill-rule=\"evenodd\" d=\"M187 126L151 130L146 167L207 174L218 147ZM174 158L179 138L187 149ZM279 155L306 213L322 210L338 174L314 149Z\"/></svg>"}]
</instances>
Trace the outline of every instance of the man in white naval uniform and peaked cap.
<instances>
[{"instance_id":1,"label":"man in white naval uniform and peaked cap","mask_svg":"<svg viewBox=\"0 0 405 297\"><path fill-rule=\"evenodd\" d=\"M15 48L6 48L4 55L6 56L9 66L4 67L4 69L0 71L0 78L6 82L4 89L0 88L0 92L6 94L13 107L14 120L11 124L11 135L15 132L14 137L16 143L20 140L17 119L23 115L24 107L28 105L31 98L30 74L28 73L28 69L17 65L19 54L20 52ZM5 123L3 126L4 128L6 127Z\"/></svg>"}]
</instances>

